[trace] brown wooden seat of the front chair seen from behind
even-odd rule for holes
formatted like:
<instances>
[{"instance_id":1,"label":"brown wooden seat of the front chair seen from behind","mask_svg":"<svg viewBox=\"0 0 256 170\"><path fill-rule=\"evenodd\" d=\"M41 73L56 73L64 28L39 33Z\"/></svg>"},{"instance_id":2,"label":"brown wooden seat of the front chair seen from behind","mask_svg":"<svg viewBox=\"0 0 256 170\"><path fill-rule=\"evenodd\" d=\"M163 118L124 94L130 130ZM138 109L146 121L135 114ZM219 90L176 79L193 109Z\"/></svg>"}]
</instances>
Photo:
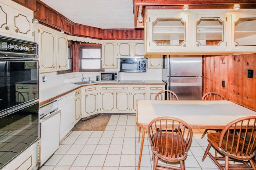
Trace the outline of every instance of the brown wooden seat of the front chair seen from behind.
<instances>
[{"instance_id":1,"label":"brown wooden seat of the front chair seen from behind","mask_svg":"<svg viewBox=\"0 0 256 170\"><path fill-rule=\"evenodd\" d=\"M159 153L161 155L164 155L162 157L163 160L173 162L172 160L175 160L174 162L177 162L177 160L183 160L186 158L187 152L185 152L184 155L182 155L181 148L184 148L186 145L186 141L183 139L183 137L180 137L178 135L167 135L168 139L166 140L166 134L162 134L162 143L158 143L156 140L161 140L161 135L158 133L158 137L156 137L156 133L154 133L154 141L155 143L159 144L156 147L152 147L152 152L154 154L158 155ZM178 139L178 140L177 140ZM166 141L167 145L166 145ZM177 144L178 141L178 144ZM173 146L172 148L166 146Z\"/></svg>"}]
</instances>

